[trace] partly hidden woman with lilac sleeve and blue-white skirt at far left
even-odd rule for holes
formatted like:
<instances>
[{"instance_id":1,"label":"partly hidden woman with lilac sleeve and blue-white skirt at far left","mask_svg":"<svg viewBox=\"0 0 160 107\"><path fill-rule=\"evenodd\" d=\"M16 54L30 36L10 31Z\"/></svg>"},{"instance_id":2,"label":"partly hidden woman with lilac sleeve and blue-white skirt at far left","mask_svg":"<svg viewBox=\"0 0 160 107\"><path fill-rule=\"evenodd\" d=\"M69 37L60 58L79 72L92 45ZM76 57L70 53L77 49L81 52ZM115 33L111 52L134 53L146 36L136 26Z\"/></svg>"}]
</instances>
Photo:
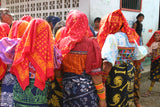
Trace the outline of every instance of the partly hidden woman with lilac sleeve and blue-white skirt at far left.
<instances>
[{"instance_id":1,"label":"partly hidden woman with lilac sleeve and blue-white skirt at far left","mask_svg":"<svg viewBox=\"0 0 160 107\"><path fill-rule=\"evenodd\" d=\"M2 44L4 43L3 47L6 47L6 51L8 51L7 49L12 49L14 50L16 47L16 38L21 38L25 29L28 26L28 22L26 21L15 21L12 24L11 30L9 32L9 38L13 39L3 39L2 40ZM15 42L14 42L15 39ZM6 41L5 41L6 40ZM12 45L11 45L12 44ZM1 46L1 45L0 45ZM10 47L10 48L7 48ZM14 52L13 52L14 53ZM5 54L6 55L6 59L8 58L7 55L8 53ZM13 58L13 56L12 56ZM15 84L16 78L15 76L13 76L9 70L11 67L12 63L8 63L8 67L7 67L7 72L5 74L5 77L2 80L2 92L1 92L1 107L6 107L6 106L13 106L13 86Z\"/></svg>"}]
</instances>

